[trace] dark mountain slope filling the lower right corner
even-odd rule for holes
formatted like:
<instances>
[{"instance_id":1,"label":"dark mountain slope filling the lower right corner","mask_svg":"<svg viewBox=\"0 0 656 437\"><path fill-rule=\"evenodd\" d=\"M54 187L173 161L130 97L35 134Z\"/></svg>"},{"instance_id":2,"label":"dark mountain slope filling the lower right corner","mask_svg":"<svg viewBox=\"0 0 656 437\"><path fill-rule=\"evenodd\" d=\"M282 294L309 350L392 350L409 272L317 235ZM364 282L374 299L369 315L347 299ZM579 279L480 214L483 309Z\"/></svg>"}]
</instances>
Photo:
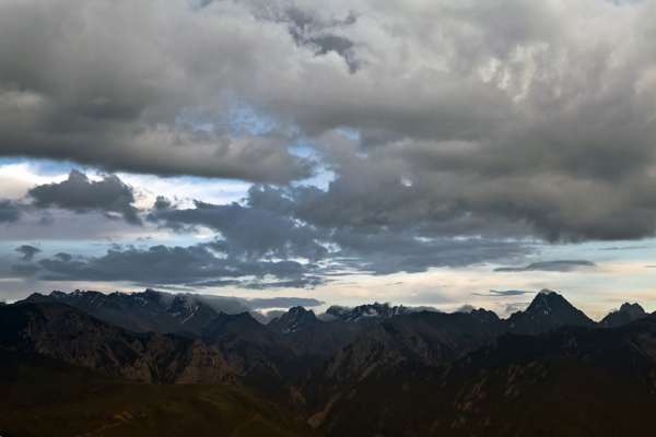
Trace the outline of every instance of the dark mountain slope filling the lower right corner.
<instances>
[{"instance_id":1,"label":"dark mountain slope filling the lower right corner","mask_svg":"<svg viewBox=\"0 0 656 437\"><path fill-rule=\"evenodd\" d=\"M612 329L506 333L454 363L401 362L324 413L326 436L652 436L656 316Z\"/></svg>"}]
</instances>

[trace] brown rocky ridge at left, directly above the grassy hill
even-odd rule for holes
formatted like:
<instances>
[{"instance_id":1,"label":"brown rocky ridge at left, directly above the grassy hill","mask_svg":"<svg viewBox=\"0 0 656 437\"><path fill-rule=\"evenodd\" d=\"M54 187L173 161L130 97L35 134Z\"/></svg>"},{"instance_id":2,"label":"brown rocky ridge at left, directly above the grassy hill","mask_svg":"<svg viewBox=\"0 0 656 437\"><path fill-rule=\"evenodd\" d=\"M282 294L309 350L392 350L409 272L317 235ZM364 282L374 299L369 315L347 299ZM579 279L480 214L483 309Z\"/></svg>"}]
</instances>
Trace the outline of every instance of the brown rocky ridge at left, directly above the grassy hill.
<instances>
[{"instance_id":1,"label":"brown rocky ridge at left, directly above the grassy hill","mask_svg":"<svg viewBox=\"0 0 656 437\"><path fill-rule=\"evenodd\" d=\"M143 382L238 383L221 353L199 340L136 336L57 303L0 308L0 347L36 352Z\"/></svg>"}]
</instances>

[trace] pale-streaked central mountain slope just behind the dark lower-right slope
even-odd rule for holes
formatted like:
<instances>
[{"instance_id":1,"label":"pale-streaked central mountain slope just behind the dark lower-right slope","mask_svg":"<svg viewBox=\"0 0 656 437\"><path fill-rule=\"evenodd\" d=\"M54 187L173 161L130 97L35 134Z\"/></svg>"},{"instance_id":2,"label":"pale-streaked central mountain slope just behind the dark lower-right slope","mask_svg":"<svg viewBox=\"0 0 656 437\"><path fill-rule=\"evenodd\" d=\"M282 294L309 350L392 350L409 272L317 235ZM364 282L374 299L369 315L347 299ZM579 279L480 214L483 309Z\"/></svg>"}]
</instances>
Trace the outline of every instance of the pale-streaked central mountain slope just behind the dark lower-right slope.
<instances>
[{"instance_id":1,"label":"pale-streaked central mountain slope just behind the dark lower-right slope","mask_svg":"<svg viewBox=\"0 0 656 437\"><path fill-rule=\"evenodd\" d=\"M367 376L407 361L425 366L450 363L487 344L501 333L500 328L466 312L433 311L393 317L364 328L302 381L300 391L314 414L311 424L320 424L331 402Z\"/></svg>"}]
</instances>

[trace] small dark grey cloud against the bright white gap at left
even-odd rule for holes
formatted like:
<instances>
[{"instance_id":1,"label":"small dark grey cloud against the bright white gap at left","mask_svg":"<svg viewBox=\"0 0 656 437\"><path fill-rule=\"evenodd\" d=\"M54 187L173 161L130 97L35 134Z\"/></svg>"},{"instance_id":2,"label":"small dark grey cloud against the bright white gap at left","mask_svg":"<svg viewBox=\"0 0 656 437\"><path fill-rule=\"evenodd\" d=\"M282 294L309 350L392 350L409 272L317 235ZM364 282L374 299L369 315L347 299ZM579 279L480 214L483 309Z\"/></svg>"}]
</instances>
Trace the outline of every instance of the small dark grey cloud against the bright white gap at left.
<instances>
[{"instance_id":1,"label":"small dark grey cloud against the bright white gap at left","mask_svg":"<svg viewBox=\"0 0 656 437\"><path fill-rule=\"evenodd\" d=\"M67 180L32 188L27 194L34 199L36 208L60 208L78 214L89 212L115 212L133 225L140 225L134 193L118 176L106 175L102 180L90 180L80 170L72 169ZM107 215L112 217L110 215Z\"/></svg>"}]
</instances>

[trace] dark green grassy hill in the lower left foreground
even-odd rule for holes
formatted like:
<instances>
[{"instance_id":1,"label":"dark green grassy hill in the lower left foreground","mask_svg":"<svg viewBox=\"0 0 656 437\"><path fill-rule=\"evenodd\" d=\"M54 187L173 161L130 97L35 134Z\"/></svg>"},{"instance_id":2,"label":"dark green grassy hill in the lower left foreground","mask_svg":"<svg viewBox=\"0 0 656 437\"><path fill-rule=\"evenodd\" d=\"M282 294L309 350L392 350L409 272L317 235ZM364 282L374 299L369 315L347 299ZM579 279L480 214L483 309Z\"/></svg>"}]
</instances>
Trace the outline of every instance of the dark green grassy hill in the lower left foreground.
<instances>
[{"instance_id":1,"label":"dark green grassy hill in the lower left foreground","mask_svg":"<svg viewBox=\"0 0 656 437\"><path fill-rule=\"evenodd\" d=\"M313 436L253 389L147 385L0 351L0 436Z\"/></svg>"}]
</instances>

